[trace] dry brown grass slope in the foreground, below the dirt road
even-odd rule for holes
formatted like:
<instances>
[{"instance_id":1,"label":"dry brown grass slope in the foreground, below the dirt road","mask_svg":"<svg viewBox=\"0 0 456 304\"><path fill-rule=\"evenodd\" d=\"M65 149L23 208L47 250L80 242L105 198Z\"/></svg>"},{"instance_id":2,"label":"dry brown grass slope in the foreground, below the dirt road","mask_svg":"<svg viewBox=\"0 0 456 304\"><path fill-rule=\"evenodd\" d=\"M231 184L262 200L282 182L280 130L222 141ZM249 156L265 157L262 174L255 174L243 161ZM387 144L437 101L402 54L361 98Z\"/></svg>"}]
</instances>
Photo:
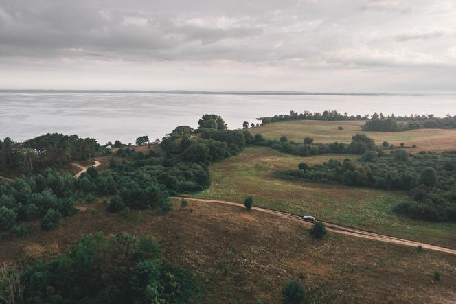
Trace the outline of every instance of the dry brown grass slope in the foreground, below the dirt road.
<instances>
[{"instance_id":1,"label":"dry brown grass slope in the foreground, below the dirt road","mask_svg":"<svg viewBox=\"0 0 456 304\"><path fill-rule=\"evenodd\" d=\"M280 303L280 288L293 278L320 294L320 303L451 303L456 296L456 256L446 253L334 233L315 241L302 223L218 204L190 202L164 215L132 211L128 220L104 212L100 201L83 207L56 231L39 231L36 222L27 237L1 240L0 260L52 257L81 235L124 231L155 235L172 264L195 274L202 303Z\"/></svg>"}]
</instances>

